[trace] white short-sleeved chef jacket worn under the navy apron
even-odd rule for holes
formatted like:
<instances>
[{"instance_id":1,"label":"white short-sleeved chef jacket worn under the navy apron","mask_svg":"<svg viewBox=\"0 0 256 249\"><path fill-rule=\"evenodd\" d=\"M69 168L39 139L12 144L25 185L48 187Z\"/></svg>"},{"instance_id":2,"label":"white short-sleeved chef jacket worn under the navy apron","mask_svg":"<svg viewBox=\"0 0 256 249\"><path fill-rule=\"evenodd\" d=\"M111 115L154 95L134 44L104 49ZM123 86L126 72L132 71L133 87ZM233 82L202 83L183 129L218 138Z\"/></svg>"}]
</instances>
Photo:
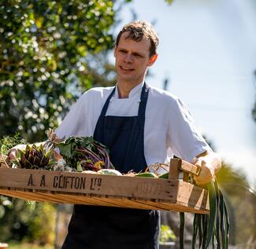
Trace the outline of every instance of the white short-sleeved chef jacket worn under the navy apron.
<instances>
[{"instance_id":1,"label":"white short-sleeved chef jacket worn under the navy apron","mask_svg":"<svg viewBox=\"0 0 256 249\"><path fill-rule=\"evenodd\" d=\"M128 98L118 98L116 88L106 115L138 115L142 87L143 83L135 86ZM113 86L95 87L83 93L56 130L58 137L93 136L98 117L112 90ZM184 103L173 94L150 87L145 116L144 156L147 165L167 163L173 154L191 162L195 156L211 150Z\"/></svg>"}]
</instances>

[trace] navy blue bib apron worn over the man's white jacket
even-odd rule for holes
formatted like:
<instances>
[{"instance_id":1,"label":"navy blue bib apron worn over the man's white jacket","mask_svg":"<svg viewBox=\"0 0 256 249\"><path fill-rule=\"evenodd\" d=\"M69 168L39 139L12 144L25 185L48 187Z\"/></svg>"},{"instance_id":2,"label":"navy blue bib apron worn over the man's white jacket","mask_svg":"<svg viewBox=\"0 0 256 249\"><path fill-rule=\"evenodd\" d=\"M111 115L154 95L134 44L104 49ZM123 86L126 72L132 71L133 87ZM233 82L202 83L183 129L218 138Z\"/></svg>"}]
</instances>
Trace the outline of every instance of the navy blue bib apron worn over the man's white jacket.
<instances>
[{"instance_id":1,"label":"navy blue bib apron worn over the man's white jacket","mask_svg":"<svg viewBox=\"0 0 256 249\"><path fill-rule=\"evenodd\" d=\"M102 108L94 138L109 148L110 161L117 170L145 170L144 123L149 88L143 85L137 116L106 116L114 92L115 88ZM158 211L74 205L62 249L157 249L158 235Z\"/></svg>"}]
</instances>

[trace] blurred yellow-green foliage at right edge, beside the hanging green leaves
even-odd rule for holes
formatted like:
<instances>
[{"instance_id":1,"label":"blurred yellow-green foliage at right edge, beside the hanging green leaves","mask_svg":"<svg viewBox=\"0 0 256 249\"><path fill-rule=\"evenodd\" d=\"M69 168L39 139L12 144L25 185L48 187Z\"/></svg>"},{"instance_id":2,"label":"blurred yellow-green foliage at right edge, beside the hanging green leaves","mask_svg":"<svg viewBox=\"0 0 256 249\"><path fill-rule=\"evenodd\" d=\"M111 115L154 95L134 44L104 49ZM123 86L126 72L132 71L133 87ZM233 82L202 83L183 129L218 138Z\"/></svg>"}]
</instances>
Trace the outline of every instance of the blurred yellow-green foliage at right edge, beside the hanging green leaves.
<instances>
[{"instance_id":1,"label":"blurred yellow-green foliage at right edge, beside the hanging green leaves","mask_svg":"<svg viewBox=\"0 0 256 249\"><path fill-rule=\"evenodd\" d=\"M246 248L250 239L256 241L254 188L250 186L243 170L234 169L227 163L223 163L217 173L217 181L227 201L231 224L229 241L231 244L241 244L241 248ZM250 242L252 244L252 241Z\"/></svg>"}]
</instances>

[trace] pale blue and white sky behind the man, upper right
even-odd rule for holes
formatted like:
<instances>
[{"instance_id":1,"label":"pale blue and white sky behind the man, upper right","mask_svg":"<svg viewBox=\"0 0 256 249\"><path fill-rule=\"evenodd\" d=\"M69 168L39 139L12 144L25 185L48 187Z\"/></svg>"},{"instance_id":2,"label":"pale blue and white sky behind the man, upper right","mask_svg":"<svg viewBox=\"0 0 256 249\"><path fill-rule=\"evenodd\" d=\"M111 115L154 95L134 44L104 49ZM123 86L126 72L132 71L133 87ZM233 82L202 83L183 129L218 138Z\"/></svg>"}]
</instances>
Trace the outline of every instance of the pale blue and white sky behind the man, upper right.
<instances>
[{"instance_id":1,"label":"pale blue and white sky behind the man, upper right","mask_svg":"<svg viewBox=\"0 0 256 249\"><path fill-rule=\"evenodd\" d=\"M202 134L226 163L256 183L256 3L254 0L133 0L120 27L133 19L154 24L158 60L151 86L180 97ZM118 28L117 28L118 30Z\"/></svg>"}]
</instances>

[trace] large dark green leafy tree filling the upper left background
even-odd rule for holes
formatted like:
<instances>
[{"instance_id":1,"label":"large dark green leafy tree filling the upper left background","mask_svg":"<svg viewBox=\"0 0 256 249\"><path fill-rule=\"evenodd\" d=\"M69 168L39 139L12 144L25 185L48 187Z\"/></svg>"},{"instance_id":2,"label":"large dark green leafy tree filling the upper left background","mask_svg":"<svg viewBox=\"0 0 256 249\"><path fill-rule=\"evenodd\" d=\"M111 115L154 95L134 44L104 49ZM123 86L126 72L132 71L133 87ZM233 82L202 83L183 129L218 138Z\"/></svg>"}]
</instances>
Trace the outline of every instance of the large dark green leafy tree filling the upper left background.
<instances>
[{"instance_id":1,"label":"large dark green leafy tree filling the upper left background","mask_svg":"<svg viewBox=\"0 0 256 249\"><path fill-rule=\"evenodd\" d=\"M92 86L85 57L113 47L113 17L106 0L2 1L0 136L20 130L42 140L46 128L58 126L61 113Z\"/></svg>"}]
</instances>

